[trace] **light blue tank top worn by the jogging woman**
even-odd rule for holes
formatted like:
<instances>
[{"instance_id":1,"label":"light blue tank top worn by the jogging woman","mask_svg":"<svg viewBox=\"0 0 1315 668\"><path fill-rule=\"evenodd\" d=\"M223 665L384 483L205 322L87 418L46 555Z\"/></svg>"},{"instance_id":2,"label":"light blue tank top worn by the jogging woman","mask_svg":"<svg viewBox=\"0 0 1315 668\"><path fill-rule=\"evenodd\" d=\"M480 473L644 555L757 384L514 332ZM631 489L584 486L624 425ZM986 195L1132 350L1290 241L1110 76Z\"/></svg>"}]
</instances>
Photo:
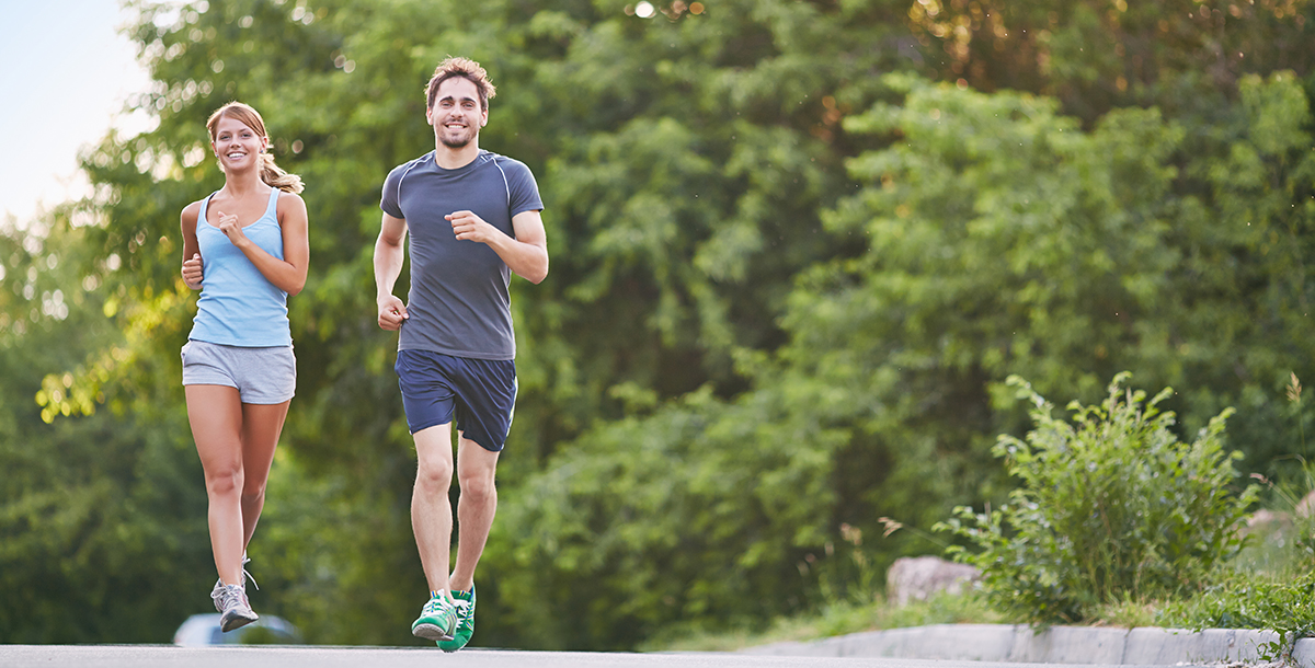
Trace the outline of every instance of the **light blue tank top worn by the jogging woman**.
<instances>
[{"instance_id":1,"label":"light blue tank top worn by the jogging woman","mask_svg":"<svg viewBox=\"0 0 1315 668\"><path fill-rule=\"evenodd\" d=\"M205 220L210 197L201 200L196 217L196 241L201 246L201 298L196 301L189 339L239 347L291 346L288 293L255 268L227 235ZM283 227L279 226L279 188L259 220L242 227L256 246L283 259Z\"/></svg>"}]
</instances>

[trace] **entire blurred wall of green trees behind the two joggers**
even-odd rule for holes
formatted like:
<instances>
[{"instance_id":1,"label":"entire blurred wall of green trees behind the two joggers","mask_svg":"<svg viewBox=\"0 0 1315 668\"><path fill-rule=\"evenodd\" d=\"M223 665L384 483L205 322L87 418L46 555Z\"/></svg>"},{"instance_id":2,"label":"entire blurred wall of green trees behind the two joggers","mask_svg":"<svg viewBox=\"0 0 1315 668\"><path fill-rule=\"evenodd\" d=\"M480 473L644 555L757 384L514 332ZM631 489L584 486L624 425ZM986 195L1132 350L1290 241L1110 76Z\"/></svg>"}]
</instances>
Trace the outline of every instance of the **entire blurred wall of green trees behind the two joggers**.
<instances>
[{"instance_id":1,"label":"entire blurred wall of green trees behind the two joggers","mask_svg":"<svg viewBox=\"0 0 1315 668\"><path fill-rule=\"evenodd\" d=\"M229 100L310 214L254 604L310 642L410 642L414 454L370 258L447 54L498 85L481 146L534 170L552 256L513 285L477 646L765 625L938 551L878 518L1007 496L1011 373L1093 402L1131 370L1177 389L1182 434L1233 406L1243 471L1311 454L1283 391L1315 359L1308 0L132 8L158 125L0 231L0 642L166 642L209 606L178 216L222 184Z\"/></svg>"}]
</instances>

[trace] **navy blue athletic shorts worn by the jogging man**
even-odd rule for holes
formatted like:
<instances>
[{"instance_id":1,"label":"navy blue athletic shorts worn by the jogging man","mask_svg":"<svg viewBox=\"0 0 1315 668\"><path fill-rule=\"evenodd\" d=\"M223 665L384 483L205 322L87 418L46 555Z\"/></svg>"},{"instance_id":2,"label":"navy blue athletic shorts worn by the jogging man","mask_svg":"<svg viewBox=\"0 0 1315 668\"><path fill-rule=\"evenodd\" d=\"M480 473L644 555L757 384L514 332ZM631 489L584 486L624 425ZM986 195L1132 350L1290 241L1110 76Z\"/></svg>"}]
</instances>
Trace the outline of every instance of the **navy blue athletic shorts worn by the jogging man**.
<instances>
[{"instance_id":1,"label":"navy blue athletic shorts worn by the jogging man","mask_svg":"<svg viewBox=\"0 0 1315 668\"><path fill-rule=\"evenodd\" d=\"M414 434L456 418L462 435L500 452L515 412L515 362L398 350L397 385Z\"/></svg>"}]
</instances>

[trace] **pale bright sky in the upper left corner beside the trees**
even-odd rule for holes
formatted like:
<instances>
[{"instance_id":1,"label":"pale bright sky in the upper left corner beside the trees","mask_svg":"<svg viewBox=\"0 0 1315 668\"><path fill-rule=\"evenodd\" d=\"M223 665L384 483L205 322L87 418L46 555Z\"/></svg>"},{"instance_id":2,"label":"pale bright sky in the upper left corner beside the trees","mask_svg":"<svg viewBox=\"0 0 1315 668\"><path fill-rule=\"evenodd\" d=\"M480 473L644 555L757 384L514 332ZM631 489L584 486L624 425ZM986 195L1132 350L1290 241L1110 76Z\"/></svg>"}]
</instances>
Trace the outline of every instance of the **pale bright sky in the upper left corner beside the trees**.
<instances>
[{"instance_id":1,"label":"pale bright sky in the upper left corner beside the trees","mask_svg":"<svg viewBox=\"0 0 1315 668\"><path fill-rule=\"evenodd\" d=\"M78 151L110 126L147 128L121 113L150 89L133 43L120 34L129 13L118 0L0 0L0 225L26 227L38 206L82 196Z\"/></svg>"}]
</instances>

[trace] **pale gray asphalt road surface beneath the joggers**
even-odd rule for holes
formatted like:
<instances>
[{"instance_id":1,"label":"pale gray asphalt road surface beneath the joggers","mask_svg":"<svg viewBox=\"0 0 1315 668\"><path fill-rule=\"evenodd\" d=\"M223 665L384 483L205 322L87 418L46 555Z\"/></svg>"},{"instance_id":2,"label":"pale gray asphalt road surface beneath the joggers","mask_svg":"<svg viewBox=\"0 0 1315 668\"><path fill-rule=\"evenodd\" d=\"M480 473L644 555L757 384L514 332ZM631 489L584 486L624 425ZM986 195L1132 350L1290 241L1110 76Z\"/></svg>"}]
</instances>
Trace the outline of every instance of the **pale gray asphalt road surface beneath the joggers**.
<instances>
[{"instance_id":1,"label":"pale gray asphalt road surface beneath the joggers","mask_svg":"<svg viewBox=\"0 0 1315 668\"><path fill-rule=\"evenodd\" d=\"M0 644L0 667L3 668L260 668L267 665L279 668L1038 668L1040 664L740 654L521 652L477 648L443 654L427 647L252 646L192 648L121 644ZM1082 668L1112 667L1085 664Z\"/></svg>"}]
</instances>

